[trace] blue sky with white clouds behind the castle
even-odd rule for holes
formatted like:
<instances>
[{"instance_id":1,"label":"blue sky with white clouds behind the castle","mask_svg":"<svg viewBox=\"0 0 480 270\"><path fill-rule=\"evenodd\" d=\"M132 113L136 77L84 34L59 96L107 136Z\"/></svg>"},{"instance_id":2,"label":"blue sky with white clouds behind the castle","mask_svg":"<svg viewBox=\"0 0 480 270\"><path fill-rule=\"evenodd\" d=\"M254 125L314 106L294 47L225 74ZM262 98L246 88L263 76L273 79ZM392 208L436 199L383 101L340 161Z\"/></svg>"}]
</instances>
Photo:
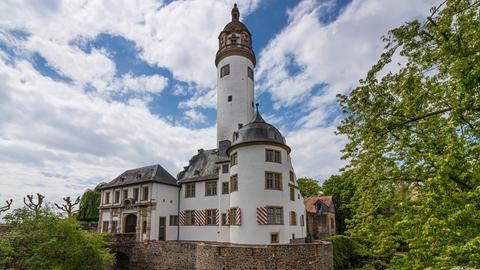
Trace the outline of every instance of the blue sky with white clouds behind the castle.
<instances>
[{"instance_id":1,"label":"blue sky with white clouds behind the castle","mask_svg":"<svg viewBox=\"0 0 480 270\"><path fill-rule=\"evenodd\" d=\"M237 2L260 111L297 177L322 182L345 165L336 95L376 63L382 35L438 1ZM37 192L60 202L151 164L176 176L214 148L214 59L233 3L0 1L0 205Z\"/></svg>"}]
</instances>

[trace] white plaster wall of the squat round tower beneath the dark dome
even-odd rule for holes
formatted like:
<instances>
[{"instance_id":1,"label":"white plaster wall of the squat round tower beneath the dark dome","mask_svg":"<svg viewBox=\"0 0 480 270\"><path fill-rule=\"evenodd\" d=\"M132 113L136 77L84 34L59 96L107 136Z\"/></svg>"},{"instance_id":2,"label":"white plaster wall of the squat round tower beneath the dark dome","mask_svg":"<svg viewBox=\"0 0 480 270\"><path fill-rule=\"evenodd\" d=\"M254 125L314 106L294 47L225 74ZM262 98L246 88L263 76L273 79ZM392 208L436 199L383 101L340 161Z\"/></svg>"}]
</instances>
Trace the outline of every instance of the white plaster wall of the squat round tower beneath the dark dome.
<instances>
[{"instance_id":1,"label":"white plaster wall of the squat round tower beneath the dark dome","mask_svg":"<svg viewBox=\"0 0 480 270\"><path fill-rule=\"evenodd\" d=\"M276 149L282 153L282 163L265 162L265 149ZM251 145L238 148L238 164L230 169L230 174L238 174L238 191L230 194L230 207L241 209L241 226L230 226L230 242L238 244L270 244L270 233L278 232L280 243L289 243L292 234L295 238L306 236L306 228L300 226L300 215L304 214L303 198L290 200L289 172L293 171L285 149L276 146ZM265 189L265 171L282 173L283 190ZM257 207L283 207L283 225L257 224ZM290 211L297 215L297 225L290 225Z\"/></svg>"}]
</instances>

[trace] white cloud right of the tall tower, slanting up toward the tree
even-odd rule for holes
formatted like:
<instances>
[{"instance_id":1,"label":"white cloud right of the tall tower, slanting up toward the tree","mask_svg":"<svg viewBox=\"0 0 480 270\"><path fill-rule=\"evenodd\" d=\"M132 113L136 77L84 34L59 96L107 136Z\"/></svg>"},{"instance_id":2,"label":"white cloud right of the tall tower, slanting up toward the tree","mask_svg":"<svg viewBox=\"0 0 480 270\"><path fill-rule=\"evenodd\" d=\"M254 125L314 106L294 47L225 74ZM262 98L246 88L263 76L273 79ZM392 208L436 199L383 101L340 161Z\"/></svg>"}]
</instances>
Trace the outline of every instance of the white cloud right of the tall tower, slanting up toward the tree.
<instances>
[{"instance_id":1,"label":"white cloud right of the tall tower, slanting up toward the tree","mask_svg":"<svg viewBox=\"0 0 480 270\"><path fill-rule=\"evenodd\" d=\"M380 37L406 21L424 18L434 2L357 0L336 20L322 24L333 2L303 1L288 12L288 26L260 52L259 88L268 90L279 108L305 101L314 87L326 84L308 103L309 109L320 111L301 121L309 127L322 124L328 115L322 109L337 93L349 91L378 60ZM293 75L292 65L298 69Z\"/></svg>"}]
</instances>

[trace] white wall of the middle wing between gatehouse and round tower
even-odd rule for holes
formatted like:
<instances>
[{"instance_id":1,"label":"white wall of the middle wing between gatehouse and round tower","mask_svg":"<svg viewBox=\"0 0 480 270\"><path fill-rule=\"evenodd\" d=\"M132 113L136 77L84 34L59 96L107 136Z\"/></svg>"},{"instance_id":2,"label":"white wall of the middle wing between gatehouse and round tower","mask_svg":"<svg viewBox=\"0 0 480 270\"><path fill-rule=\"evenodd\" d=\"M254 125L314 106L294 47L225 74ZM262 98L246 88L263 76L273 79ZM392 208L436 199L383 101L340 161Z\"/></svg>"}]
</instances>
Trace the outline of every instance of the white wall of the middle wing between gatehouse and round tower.
<instances>
[{"instance_id":1,"label":"white wall of the middle wing between gatehouse and round tower","mask_svg":"<svg viewBox=\"0 0 480 270\"><path fill-rule=\"evenodd\" d=\"M205 196L205 182L195 183L195 197L185 198L185 186L180 192L180 210L218 209L218 194L221 193L217 181L217 196ZM217 241L218 227L216 225L184 225L180 226L180 240Z\"/></svg>"}]
</instances>

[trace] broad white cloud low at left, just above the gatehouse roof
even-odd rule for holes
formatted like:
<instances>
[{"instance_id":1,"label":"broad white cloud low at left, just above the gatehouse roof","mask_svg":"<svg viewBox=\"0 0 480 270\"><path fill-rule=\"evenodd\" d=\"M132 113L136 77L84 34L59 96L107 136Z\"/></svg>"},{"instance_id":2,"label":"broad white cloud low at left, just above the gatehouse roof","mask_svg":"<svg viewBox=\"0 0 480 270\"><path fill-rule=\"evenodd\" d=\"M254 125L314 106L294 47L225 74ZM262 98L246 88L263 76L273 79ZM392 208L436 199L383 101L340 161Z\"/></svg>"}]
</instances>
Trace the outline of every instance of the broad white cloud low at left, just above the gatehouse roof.
<instances>
[{"instance_id":1,"label":"broad white cloud low at left, just above the gatehouse roof","mask_svg":"<svg viewBox=\"0 0 480 270\"><path fill-rule=\"evenodd\" d=\"M188 129L128 104L53 81L27 61L0 60L0 201L41 192L80 195L124 170L159 163L174 176L214 128Z\"/></svg>"}]
</instances>

